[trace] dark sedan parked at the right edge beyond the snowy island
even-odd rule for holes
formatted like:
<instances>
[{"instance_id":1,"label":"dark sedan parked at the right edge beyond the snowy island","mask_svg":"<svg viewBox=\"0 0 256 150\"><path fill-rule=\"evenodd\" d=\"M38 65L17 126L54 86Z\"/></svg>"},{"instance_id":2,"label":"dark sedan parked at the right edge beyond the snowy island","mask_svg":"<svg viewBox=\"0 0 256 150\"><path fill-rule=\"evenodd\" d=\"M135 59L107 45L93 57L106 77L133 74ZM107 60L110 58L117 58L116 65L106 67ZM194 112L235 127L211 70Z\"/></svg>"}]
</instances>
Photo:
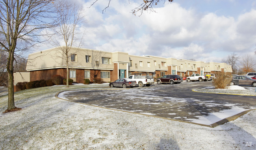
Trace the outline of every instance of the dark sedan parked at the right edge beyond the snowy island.
<instances>
[{"instance_id":1,"label":"dark sedan parked at the right edge beyond the snowy island","mask_svg":"<svg viewBox=\"0 0 256 150\"><path fill-rule=\"evenodd\" d=\"M256 87L256 80L247 76L234 76L230 85L252 85Z\"/></svg>"}]
</instances>

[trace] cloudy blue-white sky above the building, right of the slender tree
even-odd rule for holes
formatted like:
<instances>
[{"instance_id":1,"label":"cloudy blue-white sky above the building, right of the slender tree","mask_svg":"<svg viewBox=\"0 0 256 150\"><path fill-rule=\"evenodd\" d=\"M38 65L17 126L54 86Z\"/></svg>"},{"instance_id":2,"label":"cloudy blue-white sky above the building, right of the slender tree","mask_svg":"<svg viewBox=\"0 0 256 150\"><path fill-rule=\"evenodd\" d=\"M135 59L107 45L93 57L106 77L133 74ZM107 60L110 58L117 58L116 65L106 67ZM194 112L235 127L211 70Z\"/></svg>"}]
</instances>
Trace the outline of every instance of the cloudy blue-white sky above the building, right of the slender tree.
<instances>
[{"instance_id":1,"label":"cloudy blue-white sky above the building, right of the slender tree","mask_svg":"<svg viewBox=\"0 0 256 150\"><path fill-rule=\"evenodd\" d=\"M133 15L143 0L80 0L87 23L83 48L138 56L221 60L254 55L255 0L166 0L154 12ZM43 46L41 49L52 48ZM37 50L39 51L39 50Z\"/></svg>"}]
</instances>

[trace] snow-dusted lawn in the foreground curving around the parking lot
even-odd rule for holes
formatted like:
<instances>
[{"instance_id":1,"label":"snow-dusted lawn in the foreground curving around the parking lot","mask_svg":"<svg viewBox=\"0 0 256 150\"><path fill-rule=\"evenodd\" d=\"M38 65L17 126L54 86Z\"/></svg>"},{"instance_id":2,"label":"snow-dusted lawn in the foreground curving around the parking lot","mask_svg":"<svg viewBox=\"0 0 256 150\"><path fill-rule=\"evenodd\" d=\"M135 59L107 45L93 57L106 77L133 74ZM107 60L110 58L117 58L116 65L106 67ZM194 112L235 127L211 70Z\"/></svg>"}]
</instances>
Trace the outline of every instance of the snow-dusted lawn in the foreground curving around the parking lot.
<instances>
[{"instance_id":1,"label":"snow-dusted lawn in the foreground curving around the parking lot","mask_svg":"<svg viewBox=\"0 0 256 150\"><path fill-rule=\"evenodd\" d=\"M216 128L87 106L58 91L108 85L42 87L15 93L21 111L0 114L0 149L254 150L256 110ZM0 96L0 111L7 96Z\"/></svg>"}]
</instances>

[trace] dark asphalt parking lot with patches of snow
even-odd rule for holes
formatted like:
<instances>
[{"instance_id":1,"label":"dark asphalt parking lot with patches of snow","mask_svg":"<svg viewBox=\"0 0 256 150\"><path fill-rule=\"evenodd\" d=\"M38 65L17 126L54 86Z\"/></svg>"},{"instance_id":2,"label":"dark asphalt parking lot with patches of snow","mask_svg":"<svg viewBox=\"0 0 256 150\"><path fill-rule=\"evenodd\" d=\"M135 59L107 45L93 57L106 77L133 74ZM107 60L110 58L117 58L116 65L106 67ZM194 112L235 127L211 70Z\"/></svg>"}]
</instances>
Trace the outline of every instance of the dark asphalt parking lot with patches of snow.
<instances>
[{"instance_id":1,"label":"dark asphalt parking lot with patches of snow","mask_svg":"<svg viewBox=\"0 0 256 150\"><path fill-rule=\"evenodd\" d=\"M202 125L255 109L255 96L195 93L196 88L210 87L207 82L154 84L150 87L104 88L104 90L68 91L60 98L93 106L106 107L164 119L176 119ZM116 89L116 90L113 90Z\"/></svg>"}]
</instances>

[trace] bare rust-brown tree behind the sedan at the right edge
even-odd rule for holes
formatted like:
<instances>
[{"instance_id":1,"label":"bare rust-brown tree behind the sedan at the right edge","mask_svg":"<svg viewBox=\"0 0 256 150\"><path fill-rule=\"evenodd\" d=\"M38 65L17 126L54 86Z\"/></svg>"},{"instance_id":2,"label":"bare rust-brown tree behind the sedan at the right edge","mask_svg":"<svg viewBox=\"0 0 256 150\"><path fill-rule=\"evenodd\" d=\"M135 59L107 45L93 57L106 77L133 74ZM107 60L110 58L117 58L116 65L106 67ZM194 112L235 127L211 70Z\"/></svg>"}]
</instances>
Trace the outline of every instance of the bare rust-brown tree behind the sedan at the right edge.
<instances>
[{"instance_id":1,"label":"bare rust-brown tree behind the sedan at the right edge","mask_svg":"<svg viewBox=\"0 0 256 150\"><path fill-rule=\"evenodd\" d=\"M242 57L241 60L241 70L244 73L248 73L248 72L254 72L254 58L250 55L246 55L244 57Z\"/></svg>"}]
</instances>

